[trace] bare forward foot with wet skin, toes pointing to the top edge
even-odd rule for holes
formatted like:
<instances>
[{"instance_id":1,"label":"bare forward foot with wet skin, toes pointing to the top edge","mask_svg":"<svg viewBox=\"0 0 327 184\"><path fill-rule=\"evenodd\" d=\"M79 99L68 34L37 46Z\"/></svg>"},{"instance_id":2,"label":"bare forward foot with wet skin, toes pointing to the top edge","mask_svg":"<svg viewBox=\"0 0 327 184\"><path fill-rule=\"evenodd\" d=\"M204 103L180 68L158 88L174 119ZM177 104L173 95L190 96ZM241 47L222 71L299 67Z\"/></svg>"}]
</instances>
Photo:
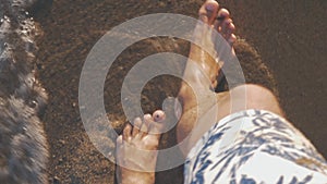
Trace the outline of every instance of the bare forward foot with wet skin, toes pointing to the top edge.
<instances>
[{"instance_id":1,"label":"bare forward foot with wet skin, toes pointing to the top edge","mask_svg":"<svg viewBox=\"0 0 327 184\"><path fill-rule=\"evenodd\" d=\"M208 77L211 82L211 88L217 85L217 76L220 72L220 65L217 64L216 58L210 57L205 49L215 50L216 45L221 42L217 38L213 38L214 29L216 29L231 46L235 41L235 35L233 34L235 26L230 19L230 13L226 9L219 9L218 2L215 0L207 0L198 11L199 22L194 30L194 39L201 44L201 47L192 44L190 49L190 61L195 61L197 66L203 71L203 74L207 75L194 75L193 64L189 64L191 69L185 69L185 77L194 77L196 82L201 82L199 86L208 87L206 85L205 77ZM205 48L205 49L204 49ZM213 53L211 53L213 54ZM218 54L218 53L216 53Z\"/></svg>"}]
</instances>

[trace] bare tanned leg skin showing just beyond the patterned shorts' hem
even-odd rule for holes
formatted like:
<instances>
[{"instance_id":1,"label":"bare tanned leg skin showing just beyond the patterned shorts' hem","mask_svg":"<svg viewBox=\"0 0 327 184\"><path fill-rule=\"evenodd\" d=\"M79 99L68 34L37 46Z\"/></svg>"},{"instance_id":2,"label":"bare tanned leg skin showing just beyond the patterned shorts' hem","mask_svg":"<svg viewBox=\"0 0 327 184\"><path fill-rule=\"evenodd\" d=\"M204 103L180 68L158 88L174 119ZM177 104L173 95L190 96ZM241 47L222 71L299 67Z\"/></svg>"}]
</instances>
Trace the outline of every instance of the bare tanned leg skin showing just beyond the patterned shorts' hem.
<instances>
[{"instance_id":1,"label":"bare tanned leg skin showing just beyond the patterned shorts' hem","mask_svg":"<svg viewBox=\"0 0 327 184\"><path fill-rule=\"evenodd\" d=\"M196 142L216 123L229 114L249 109L266 110L284 116L279 102L274 94L258 85L241 85L230 91L217 94L217 108L211 108L201 114L189 110L184 112L178 124L178 143L186 139L181 145L181 150L186 156ZM215 116L216 115L216 116ZM187 123L187 122L191 123Z\"/></svg>"}]
</instances>

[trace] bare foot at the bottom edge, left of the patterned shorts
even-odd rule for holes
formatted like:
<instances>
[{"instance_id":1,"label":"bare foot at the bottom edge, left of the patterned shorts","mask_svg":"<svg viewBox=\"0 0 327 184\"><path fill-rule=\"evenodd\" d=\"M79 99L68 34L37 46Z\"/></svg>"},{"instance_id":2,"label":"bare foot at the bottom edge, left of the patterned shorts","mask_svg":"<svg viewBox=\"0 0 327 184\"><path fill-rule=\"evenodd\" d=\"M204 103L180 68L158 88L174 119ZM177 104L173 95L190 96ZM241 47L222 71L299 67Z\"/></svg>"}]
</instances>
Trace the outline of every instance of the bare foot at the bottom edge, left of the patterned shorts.
<instances>
[{"instance_id":1,"label":"bare foot at the bottom edge, left of the patterned shorts","mask_svg":"<svg viewBox=\"0 0 327 184\"><path fill-rule=\"evenodd\" d=\"M166 115L158 110L143 119L142 122L136 118L134 127L126 125L117 138L117 176L120 184L155 183L157 149Z\"/></svg>"}]
</instances>

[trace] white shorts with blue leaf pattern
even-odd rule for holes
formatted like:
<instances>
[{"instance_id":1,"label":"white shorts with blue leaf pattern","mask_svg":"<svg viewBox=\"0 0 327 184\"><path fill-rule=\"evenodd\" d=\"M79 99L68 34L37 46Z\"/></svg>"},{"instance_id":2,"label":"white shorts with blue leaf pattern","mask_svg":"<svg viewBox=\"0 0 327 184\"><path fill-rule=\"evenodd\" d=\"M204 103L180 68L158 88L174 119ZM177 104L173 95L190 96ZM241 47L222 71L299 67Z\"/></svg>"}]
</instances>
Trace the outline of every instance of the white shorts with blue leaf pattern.
<instances>
[{"instance_id":1,"label":"white shorts with blue leaf pattern","mask_svg":"<svg viewBox=\"0 0 327 184\"><path fill-rule=\"evenodd\" d=\"M263 110L233 113L190 151L185 184L327 184L327 163L281 116Z\"/></svg>"}]
</instances>

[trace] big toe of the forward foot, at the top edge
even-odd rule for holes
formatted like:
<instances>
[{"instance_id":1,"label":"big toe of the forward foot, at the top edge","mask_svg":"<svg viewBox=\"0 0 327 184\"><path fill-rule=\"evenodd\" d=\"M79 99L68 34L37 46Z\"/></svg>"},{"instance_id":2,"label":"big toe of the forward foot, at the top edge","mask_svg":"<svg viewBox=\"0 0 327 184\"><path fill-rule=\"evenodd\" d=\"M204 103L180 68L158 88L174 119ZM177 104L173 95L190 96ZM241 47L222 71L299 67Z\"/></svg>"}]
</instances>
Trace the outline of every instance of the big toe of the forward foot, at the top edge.
<instances>
[{"instance_id":1,"label":"big toe of the forward foot, at the top edge","mask_svg":"<svg viewBox=\"0 0 327 184\"><path fill-rule=\"evenodd\" d=\"M215 0L207 0L198 11L199 20L206 24L213 25L218 11L218 2Z\"/></svg>"}]
</instances>

